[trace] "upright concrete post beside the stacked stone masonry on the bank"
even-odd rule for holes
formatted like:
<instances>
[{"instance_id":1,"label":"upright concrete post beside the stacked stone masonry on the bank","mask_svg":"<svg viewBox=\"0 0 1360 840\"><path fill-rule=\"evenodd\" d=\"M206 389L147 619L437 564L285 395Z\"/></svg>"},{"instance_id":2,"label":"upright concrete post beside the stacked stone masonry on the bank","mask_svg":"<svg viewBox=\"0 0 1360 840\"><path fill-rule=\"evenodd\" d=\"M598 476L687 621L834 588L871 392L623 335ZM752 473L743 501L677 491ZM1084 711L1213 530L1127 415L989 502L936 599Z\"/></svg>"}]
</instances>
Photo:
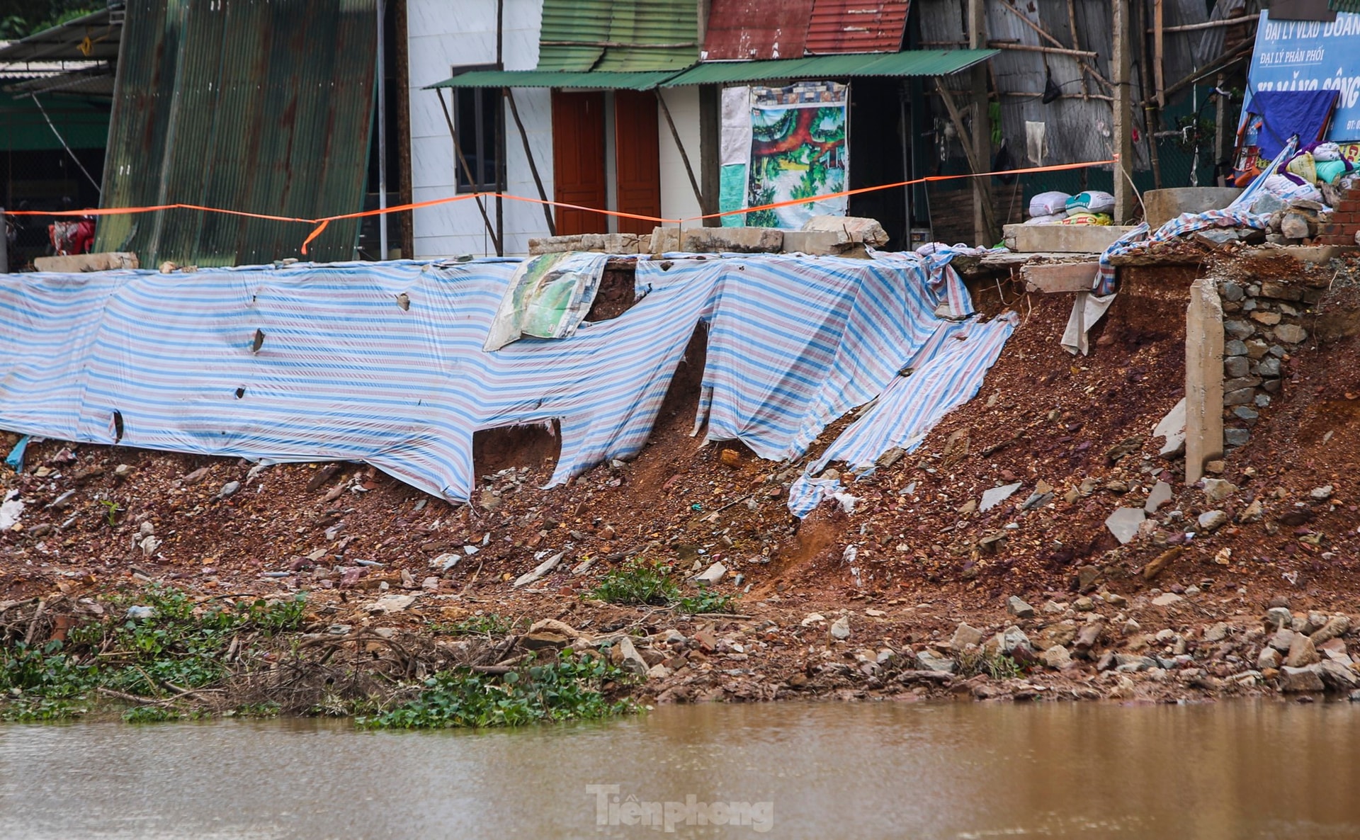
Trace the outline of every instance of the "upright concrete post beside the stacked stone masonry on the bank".
<instances>
[{"instance_id":1,"label":"upright concrete post beside the stacked stone masonry on the bank","mask_svg":"<svg viewBox=\"0 0 1360 840\"><path fill-rule=\"evenodd\" d=\"M1186 484L1223 457L1223 303L1213 280L1190 284L1186 307Z\"/></svg>"}]
</instances>

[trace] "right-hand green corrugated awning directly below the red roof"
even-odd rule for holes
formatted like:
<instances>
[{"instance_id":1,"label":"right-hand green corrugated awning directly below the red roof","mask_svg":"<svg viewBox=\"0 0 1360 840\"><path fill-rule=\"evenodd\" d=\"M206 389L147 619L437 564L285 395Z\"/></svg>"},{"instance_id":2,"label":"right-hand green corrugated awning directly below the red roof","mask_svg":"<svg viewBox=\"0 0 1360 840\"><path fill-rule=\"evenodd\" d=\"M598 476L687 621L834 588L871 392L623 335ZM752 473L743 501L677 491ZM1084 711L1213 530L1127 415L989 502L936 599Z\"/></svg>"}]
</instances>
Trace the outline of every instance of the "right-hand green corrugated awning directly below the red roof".
<instances>
[{"instance_id":1,"label":"right-hand green corrugated awning directly below the red roof","mask_svg":"<svg viewBox=\"0 0 1360 840\"><path fill-rule=\"evenodd\" d=\"M1001 50L911 50L904 53L865 53L851 56L815 56L777 61L707 61L661 83L726 84L729 82L766 82L770 79L834 79L836 76L948 76Z\"/></svg>"}]
</instances>

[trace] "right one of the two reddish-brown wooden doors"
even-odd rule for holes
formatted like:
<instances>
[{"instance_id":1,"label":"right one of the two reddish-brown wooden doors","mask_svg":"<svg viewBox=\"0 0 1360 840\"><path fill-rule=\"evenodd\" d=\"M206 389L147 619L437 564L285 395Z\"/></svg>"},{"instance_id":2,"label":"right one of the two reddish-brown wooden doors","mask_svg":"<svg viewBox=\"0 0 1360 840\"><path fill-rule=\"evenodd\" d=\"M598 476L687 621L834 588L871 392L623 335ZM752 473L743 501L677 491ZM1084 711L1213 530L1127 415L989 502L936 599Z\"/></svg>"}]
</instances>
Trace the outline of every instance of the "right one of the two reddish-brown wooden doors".
<instances>
[{"instance_id":1,"label":"right one of the two reddish-brown wooden doors","mask_svg":"<svg viewBox=\"0 0 1360 840\"><path fill-rule=\"evenodd\" d=\"M613 95L613 158L619 212L661 215L657 98L650 91ZM620 234L650 234L658 222L619 216Z\"/></svg>"}]
</instances>

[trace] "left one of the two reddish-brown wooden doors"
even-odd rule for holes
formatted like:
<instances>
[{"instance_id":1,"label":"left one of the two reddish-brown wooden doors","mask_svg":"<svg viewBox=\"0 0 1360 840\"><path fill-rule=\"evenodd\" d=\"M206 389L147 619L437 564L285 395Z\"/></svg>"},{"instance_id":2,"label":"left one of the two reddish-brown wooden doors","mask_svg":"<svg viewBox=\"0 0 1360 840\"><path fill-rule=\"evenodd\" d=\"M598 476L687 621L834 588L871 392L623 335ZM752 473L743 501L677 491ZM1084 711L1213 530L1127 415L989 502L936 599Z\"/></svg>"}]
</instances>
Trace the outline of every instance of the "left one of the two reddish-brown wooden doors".
<instances>
[{"instance_id":1,"label":"left one of the two reddish-brown wooden doors","mask_svg":"<svg viewBox=\"0 0 1360 840\"><path fill-rule=\"evenodd\" d=\"M552 193L558 201L604 209L604 94L552 91ZM554 215L559 237L609 231L604 213L558 207Z\"/></svg>"}]
</instances>

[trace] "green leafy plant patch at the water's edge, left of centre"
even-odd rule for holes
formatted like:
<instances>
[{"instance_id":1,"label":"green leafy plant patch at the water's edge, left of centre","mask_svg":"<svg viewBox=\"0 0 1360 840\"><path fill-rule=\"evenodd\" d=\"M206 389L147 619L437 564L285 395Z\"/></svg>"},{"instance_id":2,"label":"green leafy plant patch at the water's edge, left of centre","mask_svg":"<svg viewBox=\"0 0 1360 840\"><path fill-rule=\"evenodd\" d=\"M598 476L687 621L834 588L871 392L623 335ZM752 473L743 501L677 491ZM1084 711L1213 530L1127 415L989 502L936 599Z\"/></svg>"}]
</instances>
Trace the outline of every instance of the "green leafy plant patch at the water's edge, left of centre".
<instances>
[{"instance_id":1,"label":"green leafy plant patch at the water's edge, left of centre","mask_svg":"<svg viewBox=\"0 0 1360 840\"><path fill-rule=\"evenodd\" d=\"M612 699L627 681L623 670L604 659L566 650L503 676L441 671L424 681L415 699L356 723L369 729L443 729L609 718L638 711L631 700Z\"/></svg>"}]
</instances>

